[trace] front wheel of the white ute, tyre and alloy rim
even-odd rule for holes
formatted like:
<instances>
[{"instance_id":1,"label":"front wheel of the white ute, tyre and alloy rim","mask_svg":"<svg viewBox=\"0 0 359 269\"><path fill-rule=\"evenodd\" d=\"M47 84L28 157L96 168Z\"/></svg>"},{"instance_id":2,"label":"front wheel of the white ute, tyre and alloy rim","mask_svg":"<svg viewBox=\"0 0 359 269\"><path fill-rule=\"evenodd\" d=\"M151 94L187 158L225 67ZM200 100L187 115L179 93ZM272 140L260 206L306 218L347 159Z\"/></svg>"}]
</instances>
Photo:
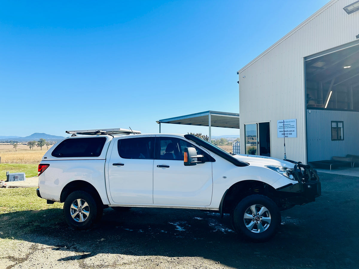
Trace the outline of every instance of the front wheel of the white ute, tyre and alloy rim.
<instances>
[{"instance_id":1,"label":"front wheel of the white ute, tyre and alloy rim","mask_svg":"<svg viewBox=\"0 0 359 269\"><path fill-rule=\"evenodd\" d=\"M280 219L276 203L260 194L243 198L231 214L234 231L254 242L265 242L275 236Z\"/></svg>"}]
</instances>

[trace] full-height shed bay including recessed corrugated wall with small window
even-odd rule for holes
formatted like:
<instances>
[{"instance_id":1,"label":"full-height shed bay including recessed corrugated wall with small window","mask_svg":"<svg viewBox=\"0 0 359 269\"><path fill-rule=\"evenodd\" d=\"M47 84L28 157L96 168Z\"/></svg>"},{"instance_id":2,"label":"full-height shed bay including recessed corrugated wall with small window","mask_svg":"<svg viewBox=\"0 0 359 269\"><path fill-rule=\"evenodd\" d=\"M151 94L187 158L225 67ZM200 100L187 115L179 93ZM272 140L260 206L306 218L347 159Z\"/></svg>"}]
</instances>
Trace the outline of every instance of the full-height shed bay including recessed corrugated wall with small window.
<instances>
[{"instance_id":1,"label":"full-height shed bay including recessed corrugated wall with small window","mask_svg":"<svg viewBox=\"0 0 359 269\"><path fill-rule=\"evenodd\" d=\"M359 40L304 58L307 162L359 154Z\"/></svg>"}]
</instances>

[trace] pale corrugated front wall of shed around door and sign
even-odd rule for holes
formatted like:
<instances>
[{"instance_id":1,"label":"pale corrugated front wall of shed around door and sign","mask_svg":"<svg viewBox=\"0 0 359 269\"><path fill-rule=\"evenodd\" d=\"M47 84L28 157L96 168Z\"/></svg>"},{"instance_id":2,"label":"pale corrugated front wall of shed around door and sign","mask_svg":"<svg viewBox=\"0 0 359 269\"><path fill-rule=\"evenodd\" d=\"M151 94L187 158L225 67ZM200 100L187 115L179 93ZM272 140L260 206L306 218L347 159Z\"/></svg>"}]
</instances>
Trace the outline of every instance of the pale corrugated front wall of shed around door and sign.
<instances>
[{"instance_id":1,"label":"pale corrugated front wall of shed around door and sign","mask_svg":"<svg viewBox=\"0 0 359 269\"><path fill-rule=\"evenodd\" d=\"M286 155L307 162L304 57L356 40L359 11L348 15L343 10L351 3L330 1L238 71L241 137L245 137L244 124L270 122L271 156L283 159L283 138L277 138L276 121L295 118L297 138L285 141Z\"/></svg>"}]
</instances>

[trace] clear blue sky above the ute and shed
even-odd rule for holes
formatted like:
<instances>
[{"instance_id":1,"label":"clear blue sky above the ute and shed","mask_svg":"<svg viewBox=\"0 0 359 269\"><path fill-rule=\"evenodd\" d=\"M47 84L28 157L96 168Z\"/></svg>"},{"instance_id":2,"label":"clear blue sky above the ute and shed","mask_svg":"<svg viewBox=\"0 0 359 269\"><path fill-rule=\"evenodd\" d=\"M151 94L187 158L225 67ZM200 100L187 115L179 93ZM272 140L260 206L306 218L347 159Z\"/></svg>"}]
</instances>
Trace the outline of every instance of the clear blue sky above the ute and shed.
<instances>
[{"instance_id":1,"label":"clear blue sky above the ute and shed","mask_svg":"<svg viewBox=\"0 0 359 269\"><path fill-rule=\"evenodd\" d=\"M238 113L236 72L326 3L0 1L0 135L153 133L158 119Z\"/></svg>"}]
</instances>

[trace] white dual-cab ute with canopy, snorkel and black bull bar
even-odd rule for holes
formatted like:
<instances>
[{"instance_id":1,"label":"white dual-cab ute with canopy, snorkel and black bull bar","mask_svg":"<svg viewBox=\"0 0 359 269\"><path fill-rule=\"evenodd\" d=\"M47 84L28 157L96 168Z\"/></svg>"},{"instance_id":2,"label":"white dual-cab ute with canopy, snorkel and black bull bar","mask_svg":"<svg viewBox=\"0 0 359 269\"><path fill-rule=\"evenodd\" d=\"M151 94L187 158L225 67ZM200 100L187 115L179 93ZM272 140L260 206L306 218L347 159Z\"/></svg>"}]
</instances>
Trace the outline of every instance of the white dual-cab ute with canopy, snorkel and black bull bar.
<instances>
[{"instance_id":1,"label":"white dual-cab ute with canopy, snorkel and black bull bar","mask_svg":"<svg viewBox=\"0 0 359 269\"><path fill-rule=\"evenodd\" d=\"M266 241L280 211L321 195L309 165L232 155L194 135L122 128L66 131L39 164L37 195L64 203L70 227L86 230L103 209L187 208L230 214L233 230Z\"/></svg>"}]
</instances>

